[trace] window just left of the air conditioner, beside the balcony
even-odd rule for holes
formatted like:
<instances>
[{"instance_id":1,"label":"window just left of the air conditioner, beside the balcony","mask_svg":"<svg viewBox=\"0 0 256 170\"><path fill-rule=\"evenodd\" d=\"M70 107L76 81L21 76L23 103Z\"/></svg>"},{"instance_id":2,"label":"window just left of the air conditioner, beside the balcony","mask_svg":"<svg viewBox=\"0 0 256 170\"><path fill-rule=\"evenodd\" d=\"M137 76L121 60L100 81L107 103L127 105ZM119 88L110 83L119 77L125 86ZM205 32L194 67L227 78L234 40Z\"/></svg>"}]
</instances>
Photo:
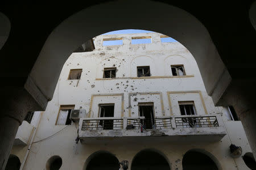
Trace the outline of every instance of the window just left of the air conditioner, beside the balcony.
<instances>
[{"instance_id":1,"label":"window just left of the air conditioner, beside the balcony","mask_svg":"<svg viewBox=\"0 0 256 170\"><path fill-rule=\"evenodd\" d=\"M61 105L56 125L71 125L70 114L75 105Z\"/></svg>"}]
</instances>

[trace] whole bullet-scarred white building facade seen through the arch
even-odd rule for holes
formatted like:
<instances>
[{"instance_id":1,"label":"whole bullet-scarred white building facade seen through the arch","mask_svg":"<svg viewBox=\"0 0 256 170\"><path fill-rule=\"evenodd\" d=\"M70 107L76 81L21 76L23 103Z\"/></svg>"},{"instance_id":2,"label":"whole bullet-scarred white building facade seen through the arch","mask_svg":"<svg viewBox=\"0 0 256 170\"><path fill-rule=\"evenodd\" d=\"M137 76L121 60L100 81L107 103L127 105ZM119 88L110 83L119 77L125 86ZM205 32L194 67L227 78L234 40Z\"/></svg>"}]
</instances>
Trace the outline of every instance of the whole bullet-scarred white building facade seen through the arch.
<instances>
[{"instance_id":1,"label":"whole bullet-scarred white building facade seen through the arch","mask_svg":"<svg viewBox=\"0 0 256 170\"><path fill-rule=\"evenodd\" d=\"M11 156L23 169L118 169L123 161L133 170L250 169L233 108L215 107L192 54L164 39L101 35L92 52L72 53L46 111L20 126ZM21 128L30 128L26 140Z\"/></svg>"}]
</instances>

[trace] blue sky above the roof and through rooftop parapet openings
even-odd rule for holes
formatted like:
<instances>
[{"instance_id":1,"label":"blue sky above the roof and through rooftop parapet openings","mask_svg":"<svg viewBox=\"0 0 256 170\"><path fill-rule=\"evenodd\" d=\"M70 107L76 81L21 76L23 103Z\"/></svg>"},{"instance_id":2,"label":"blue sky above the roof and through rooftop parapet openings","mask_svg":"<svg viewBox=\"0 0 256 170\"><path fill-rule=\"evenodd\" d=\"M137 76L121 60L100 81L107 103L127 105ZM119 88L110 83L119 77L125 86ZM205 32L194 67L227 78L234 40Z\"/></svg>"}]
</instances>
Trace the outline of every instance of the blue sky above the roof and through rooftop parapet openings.
<instances>
[{"instance_id":1,"label":"blue sky above the roof and through rooftop parapet openings","mask_svg":"<svg viewBox=\"0 0 256 170\"><path fill-rule=\"evenodd\" d=\"M154 31L147 31L142 29L122 29L117 31L111 31L104 33L103 35L113 35L113 34L125 34L125 33L148 33L148 32L154 32ZM172 39L171 37L167 38L161 38L162 42L177 42L175 39ZM151 43L151 39L137 39L132 40L131 44L147 44ZM115 41L104 41L103 45L122 45L122 40L115 40Z\"/></svg>"}]
</instances>

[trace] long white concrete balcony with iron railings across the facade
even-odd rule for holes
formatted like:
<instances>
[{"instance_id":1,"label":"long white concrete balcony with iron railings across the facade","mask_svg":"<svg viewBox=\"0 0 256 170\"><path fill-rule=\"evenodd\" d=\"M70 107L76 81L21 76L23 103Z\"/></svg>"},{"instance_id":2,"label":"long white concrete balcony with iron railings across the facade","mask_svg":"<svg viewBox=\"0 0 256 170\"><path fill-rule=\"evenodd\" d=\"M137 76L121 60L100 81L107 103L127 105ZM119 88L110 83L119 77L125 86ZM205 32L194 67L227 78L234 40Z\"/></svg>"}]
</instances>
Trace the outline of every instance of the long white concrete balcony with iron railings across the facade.
<instances>
[{"instance_id":1,"label":"long white concrete balcony with iron railings across the facade","mask_svg":"<svg viewBox=\"0 0 256 170\"><path fill-rule=\"evenodd\" d=\"M219 114L156 117L81 118L82 143L139 141L220 141L226 134Z\"/></svg>"}]
</instances>

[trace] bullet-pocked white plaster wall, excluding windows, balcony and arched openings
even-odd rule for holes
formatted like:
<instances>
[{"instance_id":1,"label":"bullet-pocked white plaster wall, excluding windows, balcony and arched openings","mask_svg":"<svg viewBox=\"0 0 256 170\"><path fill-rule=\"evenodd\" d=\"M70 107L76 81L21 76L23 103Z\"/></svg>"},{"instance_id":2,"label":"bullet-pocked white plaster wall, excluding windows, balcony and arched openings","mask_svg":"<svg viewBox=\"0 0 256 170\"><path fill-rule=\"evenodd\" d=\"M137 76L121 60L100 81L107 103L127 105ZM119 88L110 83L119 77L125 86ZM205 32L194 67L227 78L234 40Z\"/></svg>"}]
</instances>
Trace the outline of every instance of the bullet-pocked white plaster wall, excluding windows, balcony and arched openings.
<instances>
[{"instance_id":1,"label":"bullet-pocked white plaster wall, excluding windows, balcony and arched openings","mask_svg":"<svg viewBox=\"0 0 256 170\"><path fill-rule=\"evenodd\" d=\"M151 36L152 44L130 44L132 36ZM102 46L102 39L108 37L124 37L123 45ZM60 105L75 104L75 109L83 108L97 117L98 104L114 103L115 117L121 116L121 96L123 94L123 113L125 117L138 116L139 102L154 102L155 116L180 114L177 101L193 100L197 114L205 114L202 100L198 93L171 94L172 108L168 101L168 93L174 91L201 91L208 114L222 112L221 107L214 107L212 98L207 95L196 61L189 51L179 42L161 43L159 33L141 33L137 35L102 35L94 38L96 49L93 52L73 53L67 59L61 71L53 99L49 101L44 112L30 154L24 169L45 169L47 160L59 155L63 160L61 169L82 169L86 158L98 150L107 150L121 160L131 160L144 148L155 148L162 152L171 163L172 169L181 169L182 157L188 150L199 148L216 157L222 169L242 169L241 159L230 158L228 135L219 142L168 142L152 143L112 143L103 142L95 145L76 144L78 125L55 125ZM187 75L177 78L172 76L170 65L183 64ZM134 78L137 66L150 66L151 78ZM117 67L116 79L102 79L104 67ZM82 69L80 80L68 80L70 69ZM50 76L50 75L49 75ZM161 76L161 77L154 77ZM163 77L164 76L164 77ZM129 94L135 94L130 97ZM93 102L92 95L94 96ZM110 96L106 96L109 94ZM134 98L137 97L135 101ZM129 111L130 109L130 111ZM130 114L129 114L130 112ZM223 114L225 117L226 114ZM233 121L228 124L233 125ZM242 126L240 127L240 129ZM236 129L229 128L229 135ZM245 133L241 137L247 141ZM50 137L51 136L51 137ZM48 138L50 137L50 138ZM43 141L40 141L42 140ZM40 141L40 142L38 142ZM114 140L113 140L114 142ZM233 142L233 141L232 141ZM237 140L234 141L236 144ZM246 142L237 145L247 148ZM247 148L247 151L250 151ZM241 164L241 165L237 165ZM238 167L238 168L237 168Z\"/></svg>"}]
</instances>

